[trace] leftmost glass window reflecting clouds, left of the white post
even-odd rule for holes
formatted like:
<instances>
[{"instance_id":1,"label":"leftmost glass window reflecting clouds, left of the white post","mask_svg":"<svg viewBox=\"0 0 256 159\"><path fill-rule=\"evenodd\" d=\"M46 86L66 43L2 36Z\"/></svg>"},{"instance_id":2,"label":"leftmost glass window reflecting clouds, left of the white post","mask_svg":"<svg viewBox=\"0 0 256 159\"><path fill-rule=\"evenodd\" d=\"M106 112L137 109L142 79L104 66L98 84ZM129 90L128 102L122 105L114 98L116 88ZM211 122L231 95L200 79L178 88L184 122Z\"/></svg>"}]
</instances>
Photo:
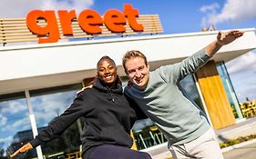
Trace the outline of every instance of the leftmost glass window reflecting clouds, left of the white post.
<instances>
[{"instance_id":1,"label":"leftmost glass window reflecting clouds, left of the white post","mask_svg":"<svg viewBox=\"0 0 256 159\"><path fill-rule=\"evenodd\" d=\"M0 95L0 158L7 159L15 150L33 139L24 93ZM16 158L35 158L36 150Z\"/></svg>"}]
</instances>

